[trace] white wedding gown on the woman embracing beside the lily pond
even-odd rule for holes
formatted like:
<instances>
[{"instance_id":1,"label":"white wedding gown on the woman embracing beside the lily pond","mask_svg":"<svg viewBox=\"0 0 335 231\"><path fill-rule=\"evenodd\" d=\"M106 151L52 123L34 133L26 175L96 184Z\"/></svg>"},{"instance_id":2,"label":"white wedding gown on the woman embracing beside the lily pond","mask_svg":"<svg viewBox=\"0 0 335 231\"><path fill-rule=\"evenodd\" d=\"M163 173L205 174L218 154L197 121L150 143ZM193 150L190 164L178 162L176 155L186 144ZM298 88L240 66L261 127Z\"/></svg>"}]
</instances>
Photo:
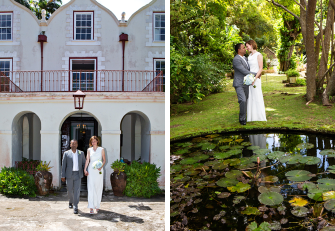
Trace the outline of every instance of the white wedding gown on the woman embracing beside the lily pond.
<instances>
[{"instance_id":1,"label":"white wedding gown on the woman embracing beside the lily pond","mask_svg":"<svg viewBox=\"0 0 335 231\"><path fill-rule=\"evenodd\" d=\"M249 55L248 64L250 71L257 73L259 70L257 56L259 52ZM254 82L256 87L249 85L249 96L246 105L246 121L266 121L263 93L261 92L261 81L257 78Z\"/></svg>"}]
</instances>

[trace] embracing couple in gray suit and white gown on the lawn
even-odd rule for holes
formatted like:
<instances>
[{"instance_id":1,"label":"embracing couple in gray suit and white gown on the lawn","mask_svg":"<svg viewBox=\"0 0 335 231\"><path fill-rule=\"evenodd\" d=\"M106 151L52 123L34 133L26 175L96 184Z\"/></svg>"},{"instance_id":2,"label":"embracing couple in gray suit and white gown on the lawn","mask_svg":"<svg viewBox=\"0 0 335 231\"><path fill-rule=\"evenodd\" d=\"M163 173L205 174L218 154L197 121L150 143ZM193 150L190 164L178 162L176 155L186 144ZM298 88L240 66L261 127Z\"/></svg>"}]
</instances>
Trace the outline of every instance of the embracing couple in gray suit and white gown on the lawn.
<instances>
[{"instance_id":1,"label":"embracing couple in gray suit and white gown on the lawn","mask_svg":"<svg viewBox=\"0 0 335 231\"><path fill-rule=\"evenodd\" d=\"M243 56L246 49L249 51L248 58ZM235 71L232 86L235 87L239 103L239 123L245 125L250 121L266 121L260 81L263 57L257 51L254 40L248 40L245 45L237 43L235 51L237 55L232 59L232 67ZM250 85L246 85L243 83L243 78L250 73L254 75L255 80Z\"/></svg>"}]
</instances>

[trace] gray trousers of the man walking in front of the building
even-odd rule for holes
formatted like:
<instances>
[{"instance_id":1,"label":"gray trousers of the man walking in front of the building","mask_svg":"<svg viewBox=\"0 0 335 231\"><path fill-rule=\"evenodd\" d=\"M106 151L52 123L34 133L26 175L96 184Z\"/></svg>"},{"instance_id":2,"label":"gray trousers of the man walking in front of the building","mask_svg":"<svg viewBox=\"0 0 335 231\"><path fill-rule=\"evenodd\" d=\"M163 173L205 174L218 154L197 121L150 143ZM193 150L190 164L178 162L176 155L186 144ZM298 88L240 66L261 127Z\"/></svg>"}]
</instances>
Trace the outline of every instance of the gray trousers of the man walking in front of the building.
<instances>
[{"instance_id":1,"label":"gray trousers of the man walking in front of the building","mask_svg":"<svg viewBox=\"0 0 335 231\"><path fill-rule=\"evenodd\" d=\"M73 203L73 209L78 209L81 178L79 171L72 171L72 177L66 177L68 200Z\"/></svg>"}]
</instances>

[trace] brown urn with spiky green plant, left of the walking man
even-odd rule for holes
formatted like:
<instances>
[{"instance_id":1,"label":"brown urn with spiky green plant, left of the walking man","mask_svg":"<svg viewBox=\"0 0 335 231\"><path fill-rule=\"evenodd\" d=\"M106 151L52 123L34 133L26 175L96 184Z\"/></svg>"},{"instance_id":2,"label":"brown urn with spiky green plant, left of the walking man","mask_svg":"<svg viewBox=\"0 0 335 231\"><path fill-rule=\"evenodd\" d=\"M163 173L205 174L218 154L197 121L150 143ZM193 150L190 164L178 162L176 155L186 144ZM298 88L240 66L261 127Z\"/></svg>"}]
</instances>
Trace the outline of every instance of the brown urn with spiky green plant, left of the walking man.
<instances>
[{"instance_id":1,"label":"brown urn with spiky green plant, left of the walking man","mask_svg":"<svg viewBox=\"0 0 335 231\"><path fill-rule=\"evenodd\" d=\"M39 165L36 167L36 174L34 175L35 185L37 187L37 193L39 195L46 195L49 193L51 182L52 182L52 174L49 172L50 161L46 163L46 161L41 161Z\"/></svg>"}]
</instances>

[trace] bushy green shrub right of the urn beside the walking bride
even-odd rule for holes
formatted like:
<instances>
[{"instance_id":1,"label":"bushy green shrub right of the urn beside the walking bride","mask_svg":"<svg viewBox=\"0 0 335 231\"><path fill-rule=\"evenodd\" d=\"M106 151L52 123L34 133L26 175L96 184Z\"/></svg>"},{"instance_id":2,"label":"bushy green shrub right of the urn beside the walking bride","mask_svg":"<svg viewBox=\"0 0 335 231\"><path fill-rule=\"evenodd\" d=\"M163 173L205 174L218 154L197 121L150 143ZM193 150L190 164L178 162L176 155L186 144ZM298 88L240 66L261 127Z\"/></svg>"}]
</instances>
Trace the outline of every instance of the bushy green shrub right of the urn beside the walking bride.
<instances>
[{"instance_id":1,"label":"bushy green shrub right of the urn beside the walking bride","mask_svg":"<svg viewBox=\"0 0 335 231\"><path fill-rule=\"evenodd\" d=\"M157 179L160 173L160 167L154 163L138 163L133 160L130 165L125 166L127 183L123 194L126 196L137 196L150 198L160 193Z\"/></svg>"}]
</instances>

